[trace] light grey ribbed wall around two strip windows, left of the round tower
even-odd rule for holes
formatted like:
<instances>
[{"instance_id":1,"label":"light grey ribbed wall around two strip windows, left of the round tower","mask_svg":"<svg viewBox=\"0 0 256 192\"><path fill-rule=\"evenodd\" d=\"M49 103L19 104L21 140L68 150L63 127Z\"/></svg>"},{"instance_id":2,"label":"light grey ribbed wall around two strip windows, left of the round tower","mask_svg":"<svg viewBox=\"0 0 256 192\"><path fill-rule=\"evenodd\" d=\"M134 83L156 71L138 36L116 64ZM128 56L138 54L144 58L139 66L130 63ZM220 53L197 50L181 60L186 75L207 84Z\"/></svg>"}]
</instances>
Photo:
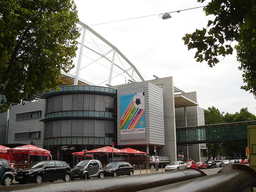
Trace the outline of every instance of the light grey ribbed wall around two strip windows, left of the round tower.
<instances>
[{"instance_id":1,"label":"light grey ribbed wall around two strip windows, left of the round tower","mask_svg":"<svg viewBox=\"0 0 256 192\"><path fill-rule=\"evenodd\" d=\"M45 108L45 100L29 102L25 105L12 106L10 110L8 144L9 143L30 144L30 142L33 141L34 145L36 145L37 147L43 148L44 122L39 122L39 121L41 119L44 119L44 108ZM42 110L41 117L16 120L16 114L39 111L39 110ZM29 134L30 132L41 132L40 134L41 137L14 139L15 133Z\"/></svg>"}]
</instances>

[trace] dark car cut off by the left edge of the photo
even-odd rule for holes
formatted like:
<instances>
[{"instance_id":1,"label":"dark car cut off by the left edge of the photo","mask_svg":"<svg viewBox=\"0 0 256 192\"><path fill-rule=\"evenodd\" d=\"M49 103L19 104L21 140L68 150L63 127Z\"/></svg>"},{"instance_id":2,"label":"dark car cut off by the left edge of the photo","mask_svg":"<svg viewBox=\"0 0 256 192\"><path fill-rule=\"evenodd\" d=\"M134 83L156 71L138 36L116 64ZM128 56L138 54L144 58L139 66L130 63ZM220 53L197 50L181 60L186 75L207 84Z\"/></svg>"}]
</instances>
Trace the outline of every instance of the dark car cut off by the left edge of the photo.
<instances>
[{"instance_id":1,"label":"dark car cut off by the left edge of the photo","mask_svg":"<svg viewBox=\"0 0 256 192\"><path fill-rule=\"evenodd\" d=\"M11 185L14 179L12 168L5 159L0 159L0 183L2 185Z\"/></svg>"}]
</instances>

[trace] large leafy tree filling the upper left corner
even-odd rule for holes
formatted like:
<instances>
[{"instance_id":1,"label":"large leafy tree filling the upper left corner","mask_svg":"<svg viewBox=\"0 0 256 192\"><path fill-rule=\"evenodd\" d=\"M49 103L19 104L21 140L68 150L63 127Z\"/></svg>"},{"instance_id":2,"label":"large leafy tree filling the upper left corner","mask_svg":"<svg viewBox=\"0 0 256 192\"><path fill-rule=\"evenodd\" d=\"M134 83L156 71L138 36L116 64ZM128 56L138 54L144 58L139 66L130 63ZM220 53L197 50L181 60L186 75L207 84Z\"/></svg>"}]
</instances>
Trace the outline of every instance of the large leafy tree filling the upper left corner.
<instances>
[{"instance_id":1,"label":"large leafy tree filling the upper left corner","mask_svg":"<svg viewBox=\"0 0 256 192\"><path fill-rule=\"evenodd\" d=\"M26 94L58 89L60 70L74 67L77 22L70 0L0 2L0 113Z\"/></svg>"}]
</instances>

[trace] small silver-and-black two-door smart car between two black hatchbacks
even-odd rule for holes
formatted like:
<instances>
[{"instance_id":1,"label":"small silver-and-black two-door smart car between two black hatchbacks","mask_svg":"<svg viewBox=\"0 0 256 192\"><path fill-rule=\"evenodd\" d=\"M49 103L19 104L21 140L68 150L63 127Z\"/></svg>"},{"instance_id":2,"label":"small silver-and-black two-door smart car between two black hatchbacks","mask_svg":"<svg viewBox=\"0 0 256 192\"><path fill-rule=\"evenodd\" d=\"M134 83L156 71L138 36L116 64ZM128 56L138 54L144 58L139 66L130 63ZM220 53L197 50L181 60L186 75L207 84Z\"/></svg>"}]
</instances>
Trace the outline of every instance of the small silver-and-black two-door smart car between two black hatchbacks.
<instances>
[{"instance_id":1,"label":"small silver-and-black two-door smart car between two black hatchbacks","mask_svg":"<svg viewBox=\"0 0 256 192\"><path fill-rule=\"evenodd\" d=\"M90 179L92 177L104 178L104 172L99 160L80 161L71 169L71 180Z\"/></svg>"}]
</instances>

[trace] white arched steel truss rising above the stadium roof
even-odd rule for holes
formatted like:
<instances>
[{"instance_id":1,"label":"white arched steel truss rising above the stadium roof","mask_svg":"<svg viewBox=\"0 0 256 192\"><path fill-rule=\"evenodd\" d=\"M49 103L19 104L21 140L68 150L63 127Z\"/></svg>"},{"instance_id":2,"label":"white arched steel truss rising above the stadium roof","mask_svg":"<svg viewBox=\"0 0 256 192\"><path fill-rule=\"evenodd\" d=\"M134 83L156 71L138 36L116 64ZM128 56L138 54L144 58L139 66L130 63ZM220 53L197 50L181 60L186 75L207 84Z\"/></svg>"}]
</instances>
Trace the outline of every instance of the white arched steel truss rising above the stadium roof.
<instances>
[{"instance_id":1,"label":"white arched steel truss rising above the stadium roof","mask_svg":"<svg viewBox=\"0 0 256 192\"><path fill-rule=\"evenodd\" d=\"M81 26L79 28L79 31L83 32L83 35L81 42L78 41L78 44L81 44L81 46L76 66L74 85L77 85L79 74L81 74L82 70L86 70L87 66L89 66L90 64L100 64L105 67L104 75L107 75L109 73L108 80L102 81L101 84L106 84L107 86L111 86L111 84L113 84L112 79L116 76L122 76L123 79L125 78L126 80L127 78L127 80L130 80L132 82L144 81L143 77L140 75L139 71L132 64L132 62L128 60L124 56L124 54L120 52L113 44L109 43L105 38L100 36L97 32L95 32L92 28L90 28L83 22L79 21L78 24ZM86 41L85 34L87 36L90 36L93 42ZM95 39L91 36L91 34L94 35ZM100 43L96 42L96 39L97 41L100 41ZM84 48L86 48L87 53L84 52ZM90 53L88 53L88 51ZM110 53L112 53L112 55ZM92 62L88 62L87 60L87 63L86 61L84 62L84 59L82 58L87 57L88 54L94 54L94 58L90 58ZM97 56L95 57L95 55ZM104 62L104 64L101 64L101 62ZM85 71L85 73L86 72L92 73L90 69ZM115 73L116 76L113 76L113 73ZM86 77L81 78L85 79Z\"/></svg>"}]
</instances>

